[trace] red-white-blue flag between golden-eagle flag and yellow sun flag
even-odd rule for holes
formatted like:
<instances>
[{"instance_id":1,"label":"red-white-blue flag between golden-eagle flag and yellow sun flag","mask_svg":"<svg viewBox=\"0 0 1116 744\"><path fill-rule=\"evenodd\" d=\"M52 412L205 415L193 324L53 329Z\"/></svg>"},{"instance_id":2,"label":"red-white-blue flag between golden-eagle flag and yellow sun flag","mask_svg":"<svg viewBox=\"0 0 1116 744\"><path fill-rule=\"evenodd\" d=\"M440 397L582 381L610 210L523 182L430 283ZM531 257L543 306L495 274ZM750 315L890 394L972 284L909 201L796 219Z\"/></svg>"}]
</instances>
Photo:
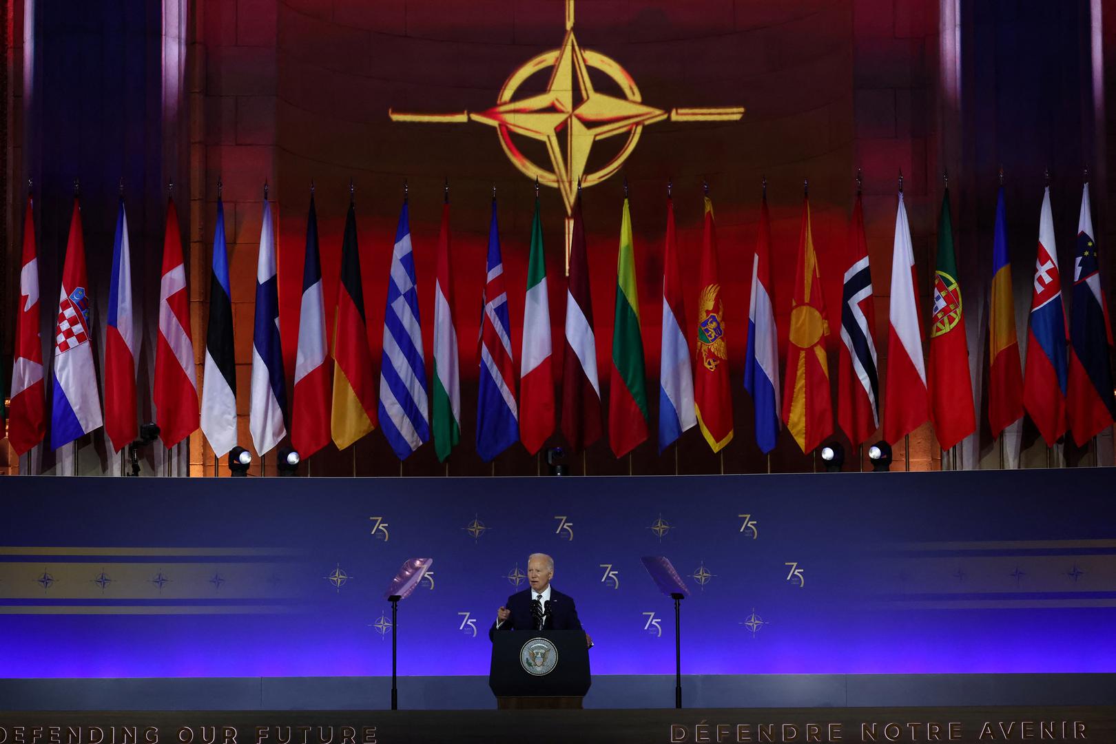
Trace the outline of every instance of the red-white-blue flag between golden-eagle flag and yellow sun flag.
<instances>
[{"instance_id":1,"label":"red-white-blue flag between golden-eagle flag and yellow sun flag","mask_svg":"<svg viewBox=\"0 0 1116 744\"><path fill-rule=\"evenodd\" d=\"M775 450L781 421L779 412L779 339L771 307L771 218L767 195L760 207L760 234L752 254L752 299L748 305L748 350L744 355L744 388L756 407L756 444L767 454Z\"/></svg>"}]
</instances>

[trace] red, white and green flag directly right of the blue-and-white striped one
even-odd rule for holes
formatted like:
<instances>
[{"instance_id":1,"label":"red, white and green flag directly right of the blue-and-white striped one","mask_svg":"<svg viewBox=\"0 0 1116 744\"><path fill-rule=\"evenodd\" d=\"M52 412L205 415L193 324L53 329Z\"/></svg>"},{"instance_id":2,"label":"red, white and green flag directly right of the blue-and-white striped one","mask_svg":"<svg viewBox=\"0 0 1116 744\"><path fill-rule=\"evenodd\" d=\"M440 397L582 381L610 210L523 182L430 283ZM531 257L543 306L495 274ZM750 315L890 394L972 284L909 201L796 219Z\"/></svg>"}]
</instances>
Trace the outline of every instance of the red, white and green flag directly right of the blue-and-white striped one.
<instances>
[{"instance_id":1,"label":"red, white and green flag directly right of the blue-and-white striped one","mask_svg":"<svg viewBox=\"0 0 1116 744\"><path fill-rule=\"evenodd\" d=\"M549 327L547 328L549 331ZM434 452L445 462L461 441L461 376L458 329L453 325L453 279L450 274L450 202L442 204L434 277Z\"/></svg>"}]
</instances>

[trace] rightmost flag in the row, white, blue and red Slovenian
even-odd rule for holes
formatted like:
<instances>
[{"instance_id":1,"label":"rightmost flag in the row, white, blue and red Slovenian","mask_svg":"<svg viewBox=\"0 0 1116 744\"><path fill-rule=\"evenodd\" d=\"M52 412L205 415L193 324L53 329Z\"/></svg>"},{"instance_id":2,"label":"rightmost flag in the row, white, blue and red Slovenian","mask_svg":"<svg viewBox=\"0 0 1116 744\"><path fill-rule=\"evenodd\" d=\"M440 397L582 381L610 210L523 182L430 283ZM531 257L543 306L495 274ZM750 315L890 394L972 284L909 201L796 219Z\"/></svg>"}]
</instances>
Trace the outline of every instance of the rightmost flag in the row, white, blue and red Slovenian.
<instances>
[{"instance_id":1,"label":"rightmost flag in the row, white, blue and red Slovenian","mask_svg":"<svg viewBox=\"0 0 1116 744\"><path fill-rule=\"evenodd\" d=\"M1113 375L1108 360L1112 326L1100 291L1100 263L1093 240L1089 184L1081 190L1074 253L1074 305L1069 313L1069 397L1067 417L1078 446L1112 426L1116 415Z\"/></svg>"}]
</instances>

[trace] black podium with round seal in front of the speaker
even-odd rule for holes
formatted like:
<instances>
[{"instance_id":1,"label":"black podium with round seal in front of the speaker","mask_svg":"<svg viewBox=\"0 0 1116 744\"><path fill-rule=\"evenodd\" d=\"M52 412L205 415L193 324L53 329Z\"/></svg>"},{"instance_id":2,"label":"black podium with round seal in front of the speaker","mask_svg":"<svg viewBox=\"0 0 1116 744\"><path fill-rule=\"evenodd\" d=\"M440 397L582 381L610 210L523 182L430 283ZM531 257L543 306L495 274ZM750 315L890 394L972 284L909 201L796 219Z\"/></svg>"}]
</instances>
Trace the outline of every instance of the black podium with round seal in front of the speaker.
<instances>
[{"instance_id":1,"label":"black podium with round seal in front of the speaker","mask_svg":"<svg viewBox=\"0 0 1116 744\"><path fill-rule=\"evenodd\" d=\"M584 630L507 630L492 638L489 687L501 711L580 708L591 684Z\"/></svg>"}]
</instances>

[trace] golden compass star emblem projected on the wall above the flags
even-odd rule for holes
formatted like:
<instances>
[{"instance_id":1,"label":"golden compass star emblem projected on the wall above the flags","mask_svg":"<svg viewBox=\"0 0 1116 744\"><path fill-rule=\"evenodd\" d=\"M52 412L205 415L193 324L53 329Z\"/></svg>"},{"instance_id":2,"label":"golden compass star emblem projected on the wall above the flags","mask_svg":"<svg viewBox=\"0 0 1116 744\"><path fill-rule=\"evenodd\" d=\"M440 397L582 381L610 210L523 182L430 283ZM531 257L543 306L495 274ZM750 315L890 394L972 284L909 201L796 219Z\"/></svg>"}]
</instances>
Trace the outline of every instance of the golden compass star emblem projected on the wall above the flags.
<instances>
[{"instance_id":1,"label":"golden compass star emblem projected on the wall above the flags","mask_svg":"<svg viewBox=\"0 0 1116 744\"><path fill-rule=\"evenodd\" d=\"M598 90L589 78L590 69L604 74L617 90ZM531 77L547 71L550 78L546 90L517 96ZM583 186L591 186L619 171L639 142L643 127L648 124L666 118L672 122L735 122L743 115L743 106L672 108L667 112L644 104L639 87L627 70L615 60L591 49L583 49L578 44L574 35L574 0L566 0L566 37L561 47L536 55L512 71L497 96L496 106L482 112L446 114L388 109L393 122L478 122L496 127L500 146L523 175L558 189L567 215L571 213L577 197L578 182ZM512 135L545 143L549 168L527 157ZM594 145L620 135L626 139L619 151L603 166L587 172Z\"/></svg>"}]
</instances>

